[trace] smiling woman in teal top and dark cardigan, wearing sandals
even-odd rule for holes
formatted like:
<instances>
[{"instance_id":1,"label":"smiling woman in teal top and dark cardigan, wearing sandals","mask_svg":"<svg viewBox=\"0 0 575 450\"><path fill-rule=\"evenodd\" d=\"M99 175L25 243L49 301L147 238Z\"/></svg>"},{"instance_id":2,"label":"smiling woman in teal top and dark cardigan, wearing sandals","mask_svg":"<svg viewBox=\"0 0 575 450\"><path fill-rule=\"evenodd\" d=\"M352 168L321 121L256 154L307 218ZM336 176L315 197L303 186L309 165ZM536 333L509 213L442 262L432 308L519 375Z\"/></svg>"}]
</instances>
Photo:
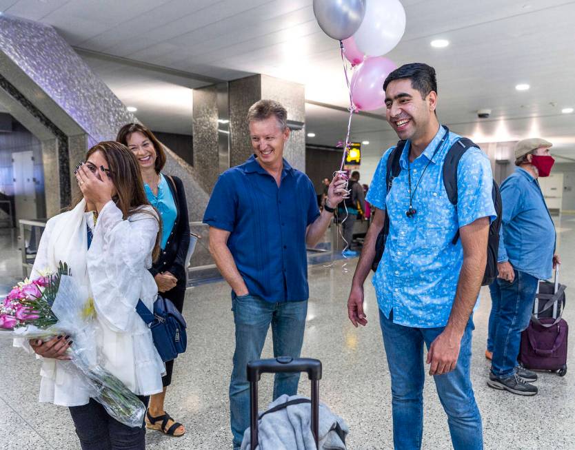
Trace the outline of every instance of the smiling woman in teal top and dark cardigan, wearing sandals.
<instances>
[{"instance_id":1,"label":"smiling woman in teal top and dark cardigan, wearing sandals","mask_svg":"<svg viewBox=\"0 0 575 450\"><path fill-rule=\"evenodd\" d=\"M161 296L172 300L181 312L185 297L185 256L190 246L188 203L183 183L176 176L161 173L165 164L163 146L148 128L139 123L128 123L118 132L117 141L126 145L136 156L142 174L145 194L162 220L161 252L150 272L156 280ZM165 412L163 403L166 388L172 382L174 361L165 363L162 377L163 392L150 396L146 426L172 436L185 433L183 425Z\"/></svg>"}]
</instances>

